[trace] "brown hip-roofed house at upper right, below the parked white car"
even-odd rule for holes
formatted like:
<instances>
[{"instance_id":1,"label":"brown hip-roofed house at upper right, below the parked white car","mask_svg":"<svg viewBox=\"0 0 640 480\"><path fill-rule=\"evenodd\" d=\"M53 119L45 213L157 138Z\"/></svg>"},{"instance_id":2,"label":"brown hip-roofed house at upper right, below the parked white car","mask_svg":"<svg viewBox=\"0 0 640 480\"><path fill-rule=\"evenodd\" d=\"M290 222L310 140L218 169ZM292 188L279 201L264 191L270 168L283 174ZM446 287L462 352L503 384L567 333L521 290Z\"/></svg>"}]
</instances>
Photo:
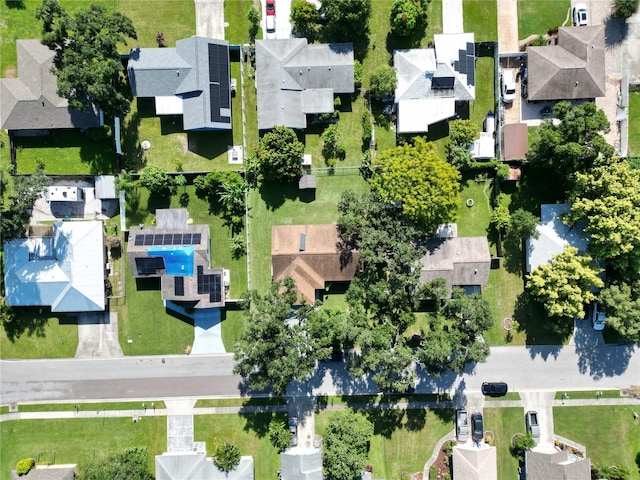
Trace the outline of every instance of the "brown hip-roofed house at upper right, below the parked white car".
<instances>
[{"instance_id":1,"label":"brown hip-roofed house at upper right, below the parked white car","mask_svg":"<svg viewBox=\"0 0 640 480\"><path fill-rule=\"evenodd\" d=\"M604 28L560 28L556 45L527 47L529 100L604 97Z\"/></svg>"}]
</instances>

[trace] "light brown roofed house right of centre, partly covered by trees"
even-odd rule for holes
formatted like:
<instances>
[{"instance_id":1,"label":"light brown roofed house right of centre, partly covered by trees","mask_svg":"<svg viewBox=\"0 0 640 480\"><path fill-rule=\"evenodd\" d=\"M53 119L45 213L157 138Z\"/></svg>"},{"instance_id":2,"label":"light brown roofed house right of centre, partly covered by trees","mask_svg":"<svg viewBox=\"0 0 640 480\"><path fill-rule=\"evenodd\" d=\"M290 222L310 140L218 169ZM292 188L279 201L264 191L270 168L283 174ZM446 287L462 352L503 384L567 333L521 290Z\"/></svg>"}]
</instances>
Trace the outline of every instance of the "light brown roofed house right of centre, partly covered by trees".
<instances>
[{"instance_id":1,"label":"light brown roofed house right of centre, partly covered by trees","mask_svg":"<svg viewBox=\"0 0 640 480\"><path fill-rule=\"evenodd\" d=\"M487 237L458 237L457 225L441 225L436 237L425 242L427 253L420 259L420 282L444 278L447 287L479 292L489 283L491 253Z\"/></svg>"}]
</instances>

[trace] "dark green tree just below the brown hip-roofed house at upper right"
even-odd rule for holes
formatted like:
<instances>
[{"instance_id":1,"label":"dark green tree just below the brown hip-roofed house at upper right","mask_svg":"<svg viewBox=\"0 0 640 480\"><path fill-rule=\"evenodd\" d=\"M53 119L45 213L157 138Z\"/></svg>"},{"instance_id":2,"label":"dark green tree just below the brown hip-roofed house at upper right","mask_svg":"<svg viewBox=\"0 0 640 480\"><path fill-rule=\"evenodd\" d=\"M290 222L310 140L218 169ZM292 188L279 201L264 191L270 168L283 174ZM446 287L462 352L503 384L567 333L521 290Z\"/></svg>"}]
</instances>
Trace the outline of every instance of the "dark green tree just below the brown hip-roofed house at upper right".
<instances>
[{"instance_id":1,"label":"dark green tree just below the brown hip-roofed house at upper right","mask_svg":"<svg viewBox=\"0 0 640 480\"><path fill-rule=\"evenodd\" d=\"M614 149L605 140L609 120L595 103L572 106L558 102L553 115L560 120L545 121L539 128L538 139L527 153L532 163L553 167L571 185L575 172L588 171L598 158L611 158Z\"/></svg>"}]
</instances>

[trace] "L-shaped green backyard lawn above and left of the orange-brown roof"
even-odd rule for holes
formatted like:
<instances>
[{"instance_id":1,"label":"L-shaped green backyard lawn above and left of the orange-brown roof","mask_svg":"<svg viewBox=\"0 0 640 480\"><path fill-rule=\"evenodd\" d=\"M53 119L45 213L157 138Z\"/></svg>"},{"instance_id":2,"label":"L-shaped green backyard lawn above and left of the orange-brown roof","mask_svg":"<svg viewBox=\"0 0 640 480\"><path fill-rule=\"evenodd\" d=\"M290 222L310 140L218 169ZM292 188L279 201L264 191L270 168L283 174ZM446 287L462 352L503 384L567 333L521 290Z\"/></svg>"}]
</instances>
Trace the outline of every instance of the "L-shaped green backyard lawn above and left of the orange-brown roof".
<instances>
[{"instance_id":1,"label":"L-shaped green backyard lawn above and left of the orange-brown roof","mask_svg":"<svg viewBox=\"0 0 640 480\"><path fill-rule=\"evenodd\" d=\"M337 170L335 176L318 175L315 199L300 197L298 185L263 184L249 194L251 288L266 291L271 271L271 226L333 223L337 203L348 189L366 191L358 170Z\"/></svg>"}]
</instances>

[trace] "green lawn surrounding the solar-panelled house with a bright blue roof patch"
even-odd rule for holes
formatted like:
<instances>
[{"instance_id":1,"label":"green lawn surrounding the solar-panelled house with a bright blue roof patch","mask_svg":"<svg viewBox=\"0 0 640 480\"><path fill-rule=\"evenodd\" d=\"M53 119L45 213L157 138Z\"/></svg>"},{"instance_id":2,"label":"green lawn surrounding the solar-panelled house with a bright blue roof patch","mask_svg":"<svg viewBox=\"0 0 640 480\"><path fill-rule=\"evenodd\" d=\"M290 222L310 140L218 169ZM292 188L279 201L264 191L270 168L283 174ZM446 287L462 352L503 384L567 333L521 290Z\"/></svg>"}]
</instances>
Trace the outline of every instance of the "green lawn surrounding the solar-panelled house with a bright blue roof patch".
<instances>
[{"instance_id":1,"label":"green lawn surrounding the solar-panelled house with a bright blue roof patch","mask_svg":"<svg viewBox=\"0 0 640 480\"><path fill-rule=\"evenodd\" d=\"M127 223L137 225L153 224L155 208L180 207L178 194L170 199L153 200L150 204L149 195L143 188L139 188L133 196L133 201L127 202ZM230 296L242 298L247 290L246 257L233 259L230 251L231 234L224 226L223 220L209 215L209 205L198 199L193 187L187 187L189 194L189 217L194 224L208 224L211 233L211 264L227 268L231 272ZM168 200L168 201L167 201ZM193 343L193 324L189 319L169 314L160 293L160 282L157 279L138 279L131 276L129 266L126 266L125 305L118 307L118 334L120 345L125 355L160 355L183 353L187 345ZM241 312L228 311L231 331L227 330L227 320L222 322L223 339L230 348L237 338L241 321ZM129 343L131 340L132 343Z\"/></svg>"}]
</instances>

